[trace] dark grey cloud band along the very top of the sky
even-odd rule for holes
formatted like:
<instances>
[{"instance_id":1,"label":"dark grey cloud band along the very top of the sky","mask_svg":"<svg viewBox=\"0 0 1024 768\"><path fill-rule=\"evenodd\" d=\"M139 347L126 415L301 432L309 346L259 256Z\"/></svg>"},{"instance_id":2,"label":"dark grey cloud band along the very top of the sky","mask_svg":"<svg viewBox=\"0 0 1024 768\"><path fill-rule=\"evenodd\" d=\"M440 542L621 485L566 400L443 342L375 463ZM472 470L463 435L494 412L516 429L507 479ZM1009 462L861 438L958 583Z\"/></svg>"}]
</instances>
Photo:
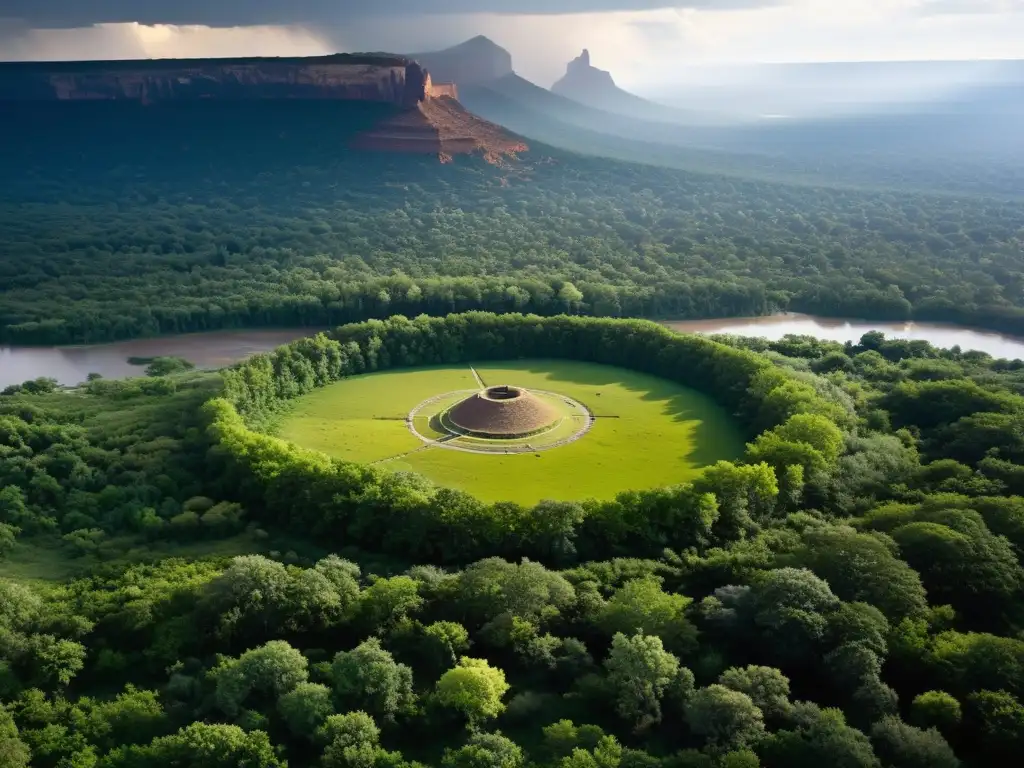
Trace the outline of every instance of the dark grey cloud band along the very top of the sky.
<instances>
[{"instance_id":1,"label":"dark grey cloud band along the very top of the sky","mask_svg":"<svg viewBox=\"0 0 1024 768\"><path fill-rule=\"evenodd\" d=\"M728 9L781 0L0 0L0 16L34 27L92 24L339 24L346 19L445 13L577 13L668 7Z\"/></svg>"}]
</instances>

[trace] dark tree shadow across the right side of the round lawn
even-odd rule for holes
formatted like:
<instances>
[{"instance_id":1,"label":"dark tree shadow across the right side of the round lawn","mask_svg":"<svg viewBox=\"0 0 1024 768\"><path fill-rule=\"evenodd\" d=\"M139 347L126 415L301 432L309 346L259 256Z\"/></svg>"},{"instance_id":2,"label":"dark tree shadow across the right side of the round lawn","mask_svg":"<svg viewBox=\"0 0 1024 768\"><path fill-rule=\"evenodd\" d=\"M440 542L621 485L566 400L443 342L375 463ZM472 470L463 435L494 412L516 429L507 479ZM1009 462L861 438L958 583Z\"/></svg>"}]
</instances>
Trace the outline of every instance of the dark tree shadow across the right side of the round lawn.
<instances>
[{"instance_id":1,"label":"dark tree shadow across the right side of the round lawn","mask_svg":"<svg viewBox=\"0 0 1024 768\"><path fill-rule=\"evenodd\" d=\"M714 397L695 389L624 368L596 362L565 359L487 360L473 364L477 370L522 368L535 375L545 375L557 388L557 382L595 388L592 396L577 397L598 417L620 416L601 408L599 390L604 386L621 386L638 394L641 400L663 403L663 415L675 422L693 422L693 439L685 446L680 459L699 467L721 460L734 460L744 447L743 425L733 419ZM682 391L681 391L682 390ZM629 417L622 417L624 420ZM624 446L627 449L628 446Z\"/></svg>"}]
</instances>

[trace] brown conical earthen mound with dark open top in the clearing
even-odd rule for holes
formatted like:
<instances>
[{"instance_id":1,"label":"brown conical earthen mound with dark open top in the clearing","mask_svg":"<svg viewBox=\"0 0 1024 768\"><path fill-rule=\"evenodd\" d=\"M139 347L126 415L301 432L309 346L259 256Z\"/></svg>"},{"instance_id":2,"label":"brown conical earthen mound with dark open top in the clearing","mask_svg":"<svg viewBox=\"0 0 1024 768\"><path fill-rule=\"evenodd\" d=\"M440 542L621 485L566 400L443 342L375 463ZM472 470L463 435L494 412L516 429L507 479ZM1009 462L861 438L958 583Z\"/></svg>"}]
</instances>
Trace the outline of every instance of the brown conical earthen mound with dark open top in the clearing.
<instances>
[{"instance_id":1,"label":"brown conical earthen mound with dark open top in the clearing","mask_svg":"<svg viewBox=\"0 0 1024 768\"><path fill-rule=\"evenodd\" d=\"M522 389L489 387L464 399L447 413L458 429L489 437L518 437L540 432L558 421L550 403Z\"/></svg>"}]
</instances>

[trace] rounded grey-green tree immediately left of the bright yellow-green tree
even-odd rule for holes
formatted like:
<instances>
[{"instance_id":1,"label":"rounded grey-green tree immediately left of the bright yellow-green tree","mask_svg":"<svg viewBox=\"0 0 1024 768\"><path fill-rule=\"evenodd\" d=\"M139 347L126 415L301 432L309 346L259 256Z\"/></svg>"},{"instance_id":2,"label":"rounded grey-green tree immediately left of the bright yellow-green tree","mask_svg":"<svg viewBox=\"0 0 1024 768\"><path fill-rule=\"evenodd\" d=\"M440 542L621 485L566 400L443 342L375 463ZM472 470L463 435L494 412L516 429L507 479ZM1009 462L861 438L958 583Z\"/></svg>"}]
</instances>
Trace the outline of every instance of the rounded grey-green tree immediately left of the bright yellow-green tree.
<instances>
[{"instance_id":1,"label":"rounded grey-green tree immediately left of the bright yellow-green tree","mask_svg":"<svg viewBox=\"0 0 1024 768\"><path fill-rule=\"evenodd\" d=\"M362 710L394 720L416 700L413 671L371 638L350 651L342 651L331 665L334 693L341 710Z\"/></svg>"}]
</instances>

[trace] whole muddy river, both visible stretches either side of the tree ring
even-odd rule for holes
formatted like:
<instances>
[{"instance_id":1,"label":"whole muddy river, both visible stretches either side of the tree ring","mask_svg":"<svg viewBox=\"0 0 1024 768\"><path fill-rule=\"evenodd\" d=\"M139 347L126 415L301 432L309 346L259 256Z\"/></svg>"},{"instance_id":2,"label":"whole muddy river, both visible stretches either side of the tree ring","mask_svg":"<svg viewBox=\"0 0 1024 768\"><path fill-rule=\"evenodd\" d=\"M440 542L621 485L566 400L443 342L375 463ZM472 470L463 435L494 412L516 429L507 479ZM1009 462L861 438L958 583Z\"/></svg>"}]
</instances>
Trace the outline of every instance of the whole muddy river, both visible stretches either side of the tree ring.
<instances>
[{"instance_id":1,"label":"whole muddy river, both visible stretches either side of the tree ring","mask_svg":"<svg viewBox=\"0 0 1024 768\"><path fill-rule=\"evenodd\" d=\"M980 349L993 357L1024 359L1024 338L937 323L870 323L783 314L680 321L666 325L689 333L728 333L769 339L780 339L786 334L805 334L833 341L857 341L868 331L882 331L886 336L924 339L938 347L959 345L962 349ZM0 387L41 376L56 379L66 385L78 384L90 373L100 374L106 379L140 376L142 368L130 365L129 357L184 357L199 368L223 368L316 331L304 328L218 331L90 346L0 347Z\"/></svg>"}]
</instances>

